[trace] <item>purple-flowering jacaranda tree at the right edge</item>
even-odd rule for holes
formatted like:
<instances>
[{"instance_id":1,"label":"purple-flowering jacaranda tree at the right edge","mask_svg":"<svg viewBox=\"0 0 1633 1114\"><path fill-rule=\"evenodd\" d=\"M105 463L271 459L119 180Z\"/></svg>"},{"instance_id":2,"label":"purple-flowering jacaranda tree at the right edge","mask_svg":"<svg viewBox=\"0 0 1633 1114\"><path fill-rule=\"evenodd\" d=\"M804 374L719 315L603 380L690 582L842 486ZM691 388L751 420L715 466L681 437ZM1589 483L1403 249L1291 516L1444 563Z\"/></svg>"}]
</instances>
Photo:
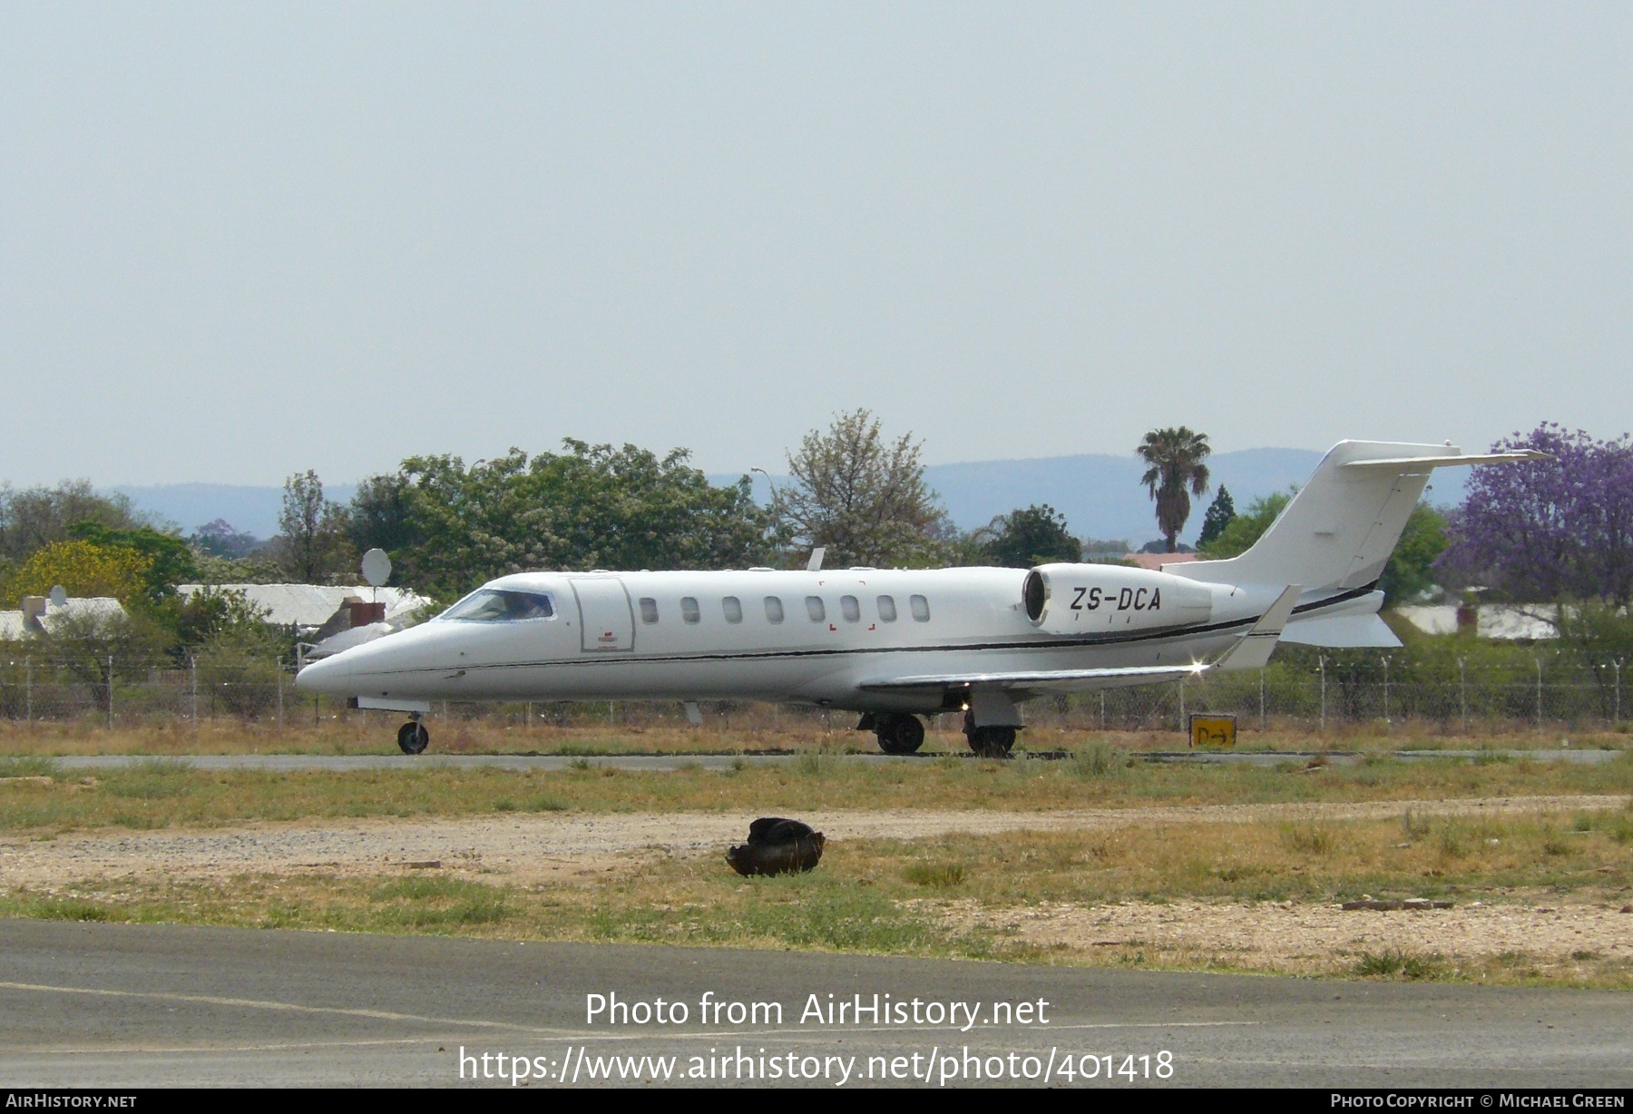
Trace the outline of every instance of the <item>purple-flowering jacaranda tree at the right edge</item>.
<instances>
[{"instance_id":1,"label":"purple-flowering jacaranda tree at the right edge","mask_svg":"<svg viewBox=\"0 0 1633 1114\"><path fill-rule=\"evenodd\" d=\"M1550 461L1475 469L1437 568L1520 599L1633 598L1633 439L1543 423L1493 451Z\"/></svg>"}]
</instances>

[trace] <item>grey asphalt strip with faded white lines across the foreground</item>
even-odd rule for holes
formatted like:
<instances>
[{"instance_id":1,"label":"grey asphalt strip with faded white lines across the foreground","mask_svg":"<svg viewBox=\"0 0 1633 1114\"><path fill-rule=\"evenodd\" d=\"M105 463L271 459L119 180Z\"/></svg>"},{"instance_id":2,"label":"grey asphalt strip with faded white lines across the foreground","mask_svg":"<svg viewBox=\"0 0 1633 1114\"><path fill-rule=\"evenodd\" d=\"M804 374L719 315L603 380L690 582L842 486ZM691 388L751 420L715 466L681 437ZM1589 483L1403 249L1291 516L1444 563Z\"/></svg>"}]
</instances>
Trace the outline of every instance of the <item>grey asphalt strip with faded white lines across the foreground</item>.
<instances>
[{"instance_id":1,"label":"grey asphalt strip with faded white lines across the foreground","mask_svg":"<svg viewBox=\"0 0 1633 1114\"><path fill-rule=\"evenodd\" d=\"M781 1003L782 1023L733 1024L722 1013L701 1024L705 991ZM681 1001L689 1016L588 1024L586 996L612 993ZM919 1000L919 1023L802 1023L812 995L826 1008L828 995L872 1003L875 993ZM1032 1023L991 1024L998 1001L1034 1003ZM962 1008L959 1026L931 1024L928 1003L968 1003L977 1024L962 1031ZM642 1057L674 1057L660 1085L719 1086L738 1081L738 1050L756 1073L776 1062L815 1075L808 1086L839 1086L849 1063L846 1086L877 1086L892 1072L916 1072L918 1086L941 1085L942 1073L949 1085L991 1085L998 1067L1021 1076L1004 1085L1050 1070L1057 1086L1626 1088L1630 1024L1633 995L1610 991L0 921L0 1080L24 1088L459 1085L462 1068L470 1085L498 1076L500 1052L506 1072L521 1055L529 1073L545 1073L531 1086L560 1086L562 1075L604 1086L591 1078L603 1070L616 1085L652 1086L663 1068ZM634 1057L634 1072L619 1078L606 1057ZM970 1078L967 1057L983 1078ZM1060 1073L1068 1057L1073 1078ZM1086 1057L1099 1057L1096 1078L1083 1078ZM1163 1065L1172 1067L1166 1080ZM689 1070L702 1078L683 1078Z\"/></svg>"}]
</instances>

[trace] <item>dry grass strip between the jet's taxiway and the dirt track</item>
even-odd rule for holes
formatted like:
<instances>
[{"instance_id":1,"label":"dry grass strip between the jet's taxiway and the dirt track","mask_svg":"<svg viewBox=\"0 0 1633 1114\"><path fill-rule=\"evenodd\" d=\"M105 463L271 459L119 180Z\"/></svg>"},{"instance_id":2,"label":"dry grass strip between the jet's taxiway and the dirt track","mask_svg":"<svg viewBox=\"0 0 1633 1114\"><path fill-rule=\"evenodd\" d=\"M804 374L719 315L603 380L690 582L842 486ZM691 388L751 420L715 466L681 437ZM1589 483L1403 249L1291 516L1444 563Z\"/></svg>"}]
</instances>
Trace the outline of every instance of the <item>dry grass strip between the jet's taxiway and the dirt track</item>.
<instances>
[{"instance_id":1,"label":"dry grass strip between the jet's taxiway and the dirt track","mask_svg":"<svg viewBox=\"0 0 1633 1114\"><path fill-rule=\"evenodd\" d=\"M1127 809L1140 805L1413 800L1530 794L1626 794L1633 758L1594 766L1455 760L1287 768L1071 761L861 764L810 751L785 766L627 771L575 761L563 771L364 769L345 773L201 771L181 760L67 776L49 760L11 758L0 778L0 831L49 835L87 828L220 827L250 820L459 817L493 812L812 812L833 809ZM1101 771L1101 773L1096 773ZM1408 840L1422 825L1403 817ZM1600 823L1600 822L1594 822ZM1633 817L1609 822L1633 838ZM1316 841L1306 831L1295 840ZM1560 835L1553 851L1569 856ZM1310 851L1319 853L1316 843ZM1455 848L1448 848L1457 854Z\"/></svg>"}]
</instances>

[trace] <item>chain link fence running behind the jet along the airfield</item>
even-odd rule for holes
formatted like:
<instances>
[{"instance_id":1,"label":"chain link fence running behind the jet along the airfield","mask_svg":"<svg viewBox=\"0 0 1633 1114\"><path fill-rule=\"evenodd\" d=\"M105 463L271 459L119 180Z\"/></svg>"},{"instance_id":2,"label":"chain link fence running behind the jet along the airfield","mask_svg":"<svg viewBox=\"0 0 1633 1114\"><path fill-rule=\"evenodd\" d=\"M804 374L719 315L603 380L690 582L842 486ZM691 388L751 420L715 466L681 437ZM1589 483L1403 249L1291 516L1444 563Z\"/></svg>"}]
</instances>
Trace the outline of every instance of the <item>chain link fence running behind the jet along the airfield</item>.
<instances>
[{"instance_id":1,"label":"chain link fence running behind the jet along the airfield","mask_svg":"<svg viewBox=\"0 0 1633 1114\"><path fill-rule=\"evenodd\" d=\"M1501 663L1458 657L1424 660L1378 652L1295 652L1264 670L1207 675L1026 706L1029 724L1078 730L1182 730L1187 712L1231 712L1244 729L1324 730L1346 724L1421 724L1442 730L1497 727L1615 729L1633 712L1620 660L1509 655ZM719 702L714 717L746 715L750 704ZM266 725L312 724L343 714L338 697L294 688L289 662L251 657L49 658L0 662L0 717L88 720L106 727L240 719ZM509 702L454 706L447 715L516 724L647 725L679 719L673 702ZM841 712L761 709L756 720L810 719L846 727Z\"/></svg>"}]
</instances>

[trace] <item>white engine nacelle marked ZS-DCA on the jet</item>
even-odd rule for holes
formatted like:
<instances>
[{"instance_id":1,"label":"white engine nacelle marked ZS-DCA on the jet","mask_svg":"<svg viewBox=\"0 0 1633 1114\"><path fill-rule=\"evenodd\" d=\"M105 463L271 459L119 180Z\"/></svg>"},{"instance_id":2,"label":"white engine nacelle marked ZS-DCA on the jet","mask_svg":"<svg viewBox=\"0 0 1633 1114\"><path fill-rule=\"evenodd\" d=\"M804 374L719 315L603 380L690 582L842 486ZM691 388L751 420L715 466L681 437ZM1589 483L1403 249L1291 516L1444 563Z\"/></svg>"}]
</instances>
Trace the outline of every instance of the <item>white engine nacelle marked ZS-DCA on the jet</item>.
<instances>
[{"instance_id":1,"label":"white engine nacelle marked ZS-DCA on the jet","mask_svg":"<svg viewBox=\"0 0 1633 1114\"><path fill-rule=\"evenodd\" d=\"M1208 585L1127 565L1039 565L1021 598L1032 626L1047 634L1151 631L1213 614Z\"/></svg>"}]
</instances>

